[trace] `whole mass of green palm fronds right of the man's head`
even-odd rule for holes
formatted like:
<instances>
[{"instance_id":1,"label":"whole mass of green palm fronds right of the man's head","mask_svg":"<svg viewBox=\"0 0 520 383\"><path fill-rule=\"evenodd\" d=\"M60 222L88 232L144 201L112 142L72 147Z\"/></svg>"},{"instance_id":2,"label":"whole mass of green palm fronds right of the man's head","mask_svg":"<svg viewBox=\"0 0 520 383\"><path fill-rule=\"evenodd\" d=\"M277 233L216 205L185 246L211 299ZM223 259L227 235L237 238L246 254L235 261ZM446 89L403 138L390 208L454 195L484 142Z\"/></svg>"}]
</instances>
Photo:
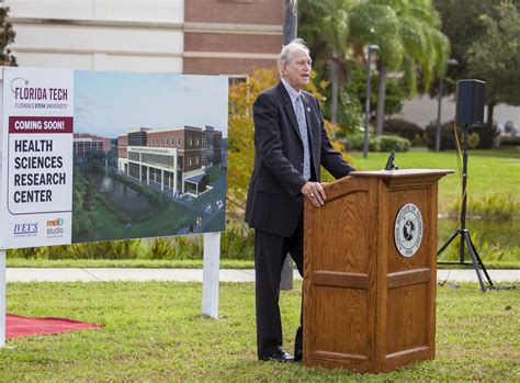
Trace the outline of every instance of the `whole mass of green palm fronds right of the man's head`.
<instances>
[{"instance_id":1,"label":"whole mass of green palm fronds right of the man's head","mask_svg":"<svg viewBox=\"0 0 520 383\"><path fill-rule=\"evenodd\" d=\"M402 71L398 80L407 94L414 94L418 79L428 89L434 78L443 74L450 44L440 32L440 18L430 0L301 0L301 35L310 42L320 72L327 72L331 82L330 115L336 116L335 82L339 83L338 121L341 122L341 88L357 76L352 63L366 66L369 44L380 46L377 91L377 123L388 113L386 85L388 71ZM363 74L364 77L364 74ZM394 80L395 82L395 80ZM348 91L348 95L359 92ZM403 93L403 97L405 93ZM364 99L364 92L362 95ZM392 112L400 101L393 99ZM357 108L353 111L360 112ZM392 113L391 112L391 113Z\"/></svg>"}]
</instances>

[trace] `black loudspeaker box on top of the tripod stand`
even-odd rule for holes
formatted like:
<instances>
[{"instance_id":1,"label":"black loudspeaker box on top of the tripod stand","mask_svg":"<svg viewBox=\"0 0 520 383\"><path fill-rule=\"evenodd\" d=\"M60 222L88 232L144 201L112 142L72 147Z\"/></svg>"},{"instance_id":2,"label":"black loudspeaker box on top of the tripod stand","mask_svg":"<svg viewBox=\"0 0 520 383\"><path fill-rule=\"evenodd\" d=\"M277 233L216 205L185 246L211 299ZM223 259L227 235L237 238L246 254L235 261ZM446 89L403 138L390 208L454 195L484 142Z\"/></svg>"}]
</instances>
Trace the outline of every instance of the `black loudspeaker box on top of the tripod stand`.
<instances>
[{"instance_id":1,"label":"black loudspeaker box on top of the tripod stand","mask_svg":"<svg viewBox=\"0 0 520 383\"><path fill-rule=\"evenodd\" d=\"M460 80L456 83L457 124L484 124L484 94L486 82L481 80Z\"/></svg>"}]
</instances>

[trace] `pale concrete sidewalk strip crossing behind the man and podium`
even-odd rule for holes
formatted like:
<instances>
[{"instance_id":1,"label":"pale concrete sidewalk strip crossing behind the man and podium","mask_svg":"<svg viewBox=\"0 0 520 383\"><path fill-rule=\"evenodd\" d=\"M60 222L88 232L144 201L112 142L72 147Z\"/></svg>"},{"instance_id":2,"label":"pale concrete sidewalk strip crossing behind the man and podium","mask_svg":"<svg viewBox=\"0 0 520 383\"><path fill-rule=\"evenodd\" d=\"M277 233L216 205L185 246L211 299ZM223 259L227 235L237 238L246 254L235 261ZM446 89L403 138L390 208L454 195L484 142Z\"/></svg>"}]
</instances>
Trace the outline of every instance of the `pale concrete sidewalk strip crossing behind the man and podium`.
<instances>
[{"instance_id":1,"label":"pale concrete sidewalk strip crossing behind the man and podium","mask_svg":"<svg viewBox=\"0 0 520 383\"><path fill-rule=\"evenodd\" d=\"M494 282L520 281L520 270L488 270ZM294 271L294 279L301 280ZM448 282L478 282L475 270L438 270ZM221 282L253 282L255 270L221 270ZM178 281L202 282L202 269L7 269L8 282Z\"/></svg>"}]
</instances>

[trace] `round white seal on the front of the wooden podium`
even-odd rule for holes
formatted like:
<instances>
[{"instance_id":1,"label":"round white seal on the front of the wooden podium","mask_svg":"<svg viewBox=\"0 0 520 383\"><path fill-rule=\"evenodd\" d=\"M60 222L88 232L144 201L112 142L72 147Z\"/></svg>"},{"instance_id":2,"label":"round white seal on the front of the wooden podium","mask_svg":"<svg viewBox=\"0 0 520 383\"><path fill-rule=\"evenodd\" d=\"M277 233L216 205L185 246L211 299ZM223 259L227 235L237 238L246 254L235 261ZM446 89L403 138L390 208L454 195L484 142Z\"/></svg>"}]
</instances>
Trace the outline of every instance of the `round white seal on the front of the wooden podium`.
<instances>
[{"instance_id":1,"label":"round white seal on the front of the wooden podium","mask_svg":"<svg viewBox=\"0 0 520 383\"><path fill-rule=\"evenodd\" d=\"M422 214L419 207L407 203L400 207L395 218L394 240L403 257L412 257L422 241Z\"/></svg>"}]
</instances>

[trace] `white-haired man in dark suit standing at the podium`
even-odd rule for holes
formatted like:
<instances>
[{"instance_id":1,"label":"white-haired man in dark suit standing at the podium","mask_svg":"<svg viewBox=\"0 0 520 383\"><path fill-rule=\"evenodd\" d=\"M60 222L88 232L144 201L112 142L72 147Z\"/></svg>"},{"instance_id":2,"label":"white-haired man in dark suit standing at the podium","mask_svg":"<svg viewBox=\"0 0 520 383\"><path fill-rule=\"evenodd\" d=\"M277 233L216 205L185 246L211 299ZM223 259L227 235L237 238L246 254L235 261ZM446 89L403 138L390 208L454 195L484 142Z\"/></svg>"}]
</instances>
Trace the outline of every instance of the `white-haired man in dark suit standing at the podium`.
<instances>
[{"instance_id":1,"label":"white-haired man in dark suit standing at the podium","mask_svg":"<svg viewBox=\"0 0 520 383\"><path fill-rule=\"evenodd\" d=\"M279 56L281 81L263 91L253 105L255 168L249 183L246 222L255 232L257 350L260 360L302 359L302 326L295 357L282 348L279 296L287 252L303 275L303 202L325 203L320 166L335 178L352 171L334 150L318 100L303 91L312 59L297 38Z\"/></svg>"}]
</instances>

